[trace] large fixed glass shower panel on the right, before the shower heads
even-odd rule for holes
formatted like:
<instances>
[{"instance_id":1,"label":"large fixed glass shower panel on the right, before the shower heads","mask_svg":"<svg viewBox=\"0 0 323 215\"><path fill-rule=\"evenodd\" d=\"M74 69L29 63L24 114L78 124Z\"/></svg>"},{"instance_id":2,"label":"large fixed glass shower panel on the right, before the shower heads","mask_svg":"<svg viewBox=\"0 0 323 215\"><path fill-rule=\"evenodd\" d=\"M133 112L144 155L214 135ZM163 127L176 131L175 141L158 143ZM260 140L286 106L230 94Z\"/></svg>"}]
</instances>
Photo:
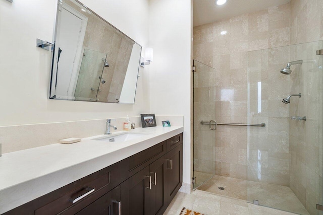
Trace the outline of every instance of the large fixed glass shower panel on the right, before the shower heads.
<instances>
[{"instance_id":1,"label":"large fixed glass shower panel on the right, before the shower heads","mask_svg":"<svg viewBox=\"0 0 323 215\"><path fill-rule=\"evenodd\" d=\"M247 201L321 215L323 205L323 41L251 51L248 59ZM280 73L288 62L290 75ZM291 94L290 103L283 99ZM306 117L306 120L304 120ZM318 206L317 206L318 205Z\"/></svg>"}]
</instances>

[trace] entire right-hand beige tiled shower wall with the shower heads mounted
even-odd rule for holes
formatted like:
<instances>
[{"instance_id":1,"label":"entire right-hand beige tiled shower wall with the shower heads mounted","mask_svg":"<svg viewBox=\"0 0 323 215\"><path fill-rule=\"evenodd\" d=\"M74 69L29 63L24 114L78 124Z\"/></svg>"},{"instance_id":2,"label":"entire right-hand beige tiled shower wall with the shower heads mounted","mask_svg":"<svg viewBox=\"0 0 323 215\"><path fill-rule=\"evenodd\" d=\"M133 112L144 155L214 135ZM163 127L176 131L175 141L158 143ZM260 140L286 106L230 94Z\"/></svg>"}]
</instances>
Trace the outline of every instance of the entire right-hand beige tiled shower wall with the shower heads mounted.
<instances>
[{"instance_id":1,"label":"entire right-hand beige tiled shower wall with the shower heads mounted","mask_svg":"<svg viewBox=\"0 0 323 215\"><path fill-rule=\"evenodd\" d=\"M291 116L306 116L306 122L290 121L290 188L310 214L317 214L323 190L323 1L291 1L291 60L303 59L291 74L290 92L302 93L290 103ZM318 41L318 42L313 42ZM299 44L304 43L304 44Z\"/></svg>"}]
</instances>

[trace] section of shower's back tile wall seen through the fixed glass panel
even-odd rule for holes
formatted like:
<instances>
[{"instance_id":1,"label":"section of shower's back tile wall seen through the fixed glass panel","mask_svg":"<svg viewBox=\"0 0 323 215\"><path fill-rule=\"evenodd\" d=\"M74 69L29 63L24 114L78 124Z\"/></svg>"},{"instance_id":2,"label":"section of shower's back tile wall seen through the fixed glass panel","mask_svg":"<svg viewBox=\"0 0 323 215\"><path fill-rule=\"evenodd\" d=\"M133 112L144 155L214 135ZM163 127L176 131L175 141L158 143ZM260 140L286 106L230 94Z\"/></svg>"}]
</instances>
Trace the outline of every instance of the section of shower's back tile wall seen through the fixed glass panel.
<instances>
[{"instance_id":1,"label":"section of shower's back tile wall seen through the fixed glass panel","mask_svg":"<svg viewBox=\"0 0 323 215\"><path fill-rule=\"evenodd\" d=\"M251 51L247 54L248 127L247 179L289 185L289 79L279 71L289 61L289 46Z\"/></svg>"}]
</instances>

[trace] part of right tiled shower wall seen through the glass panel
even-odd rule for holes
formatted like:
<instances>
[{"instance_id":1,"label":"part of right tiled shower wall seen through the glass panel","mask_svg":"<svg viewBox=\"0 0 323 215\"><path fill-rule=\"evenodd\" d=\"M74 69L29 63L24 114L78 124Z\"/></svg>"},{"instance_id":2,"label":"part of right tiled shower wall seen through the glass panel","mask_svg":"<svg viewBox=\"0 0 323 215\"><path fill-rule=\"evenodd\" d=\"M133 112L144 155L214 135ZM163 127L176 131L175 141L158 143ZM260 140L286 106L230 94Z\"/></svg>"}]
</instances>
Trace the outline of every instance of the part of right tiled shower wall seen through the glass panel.
<instances>
[{"instance_id":1,"label":"part of right tiled shower wall seen through the glass panel","mask_svg":"<svg viewBox=\"0 0 323 215\"><path fill-rule=\"evenodd\" d=\"M303 64L291 74L291 93L302 93L290 103L291 116L306 116L304 121L290 121L290 187L310 214L317 214L315 204L322 199L323 146L323 58L316 50L323 42L291 46L291 60Z\"/></svg>"}]
</instances>

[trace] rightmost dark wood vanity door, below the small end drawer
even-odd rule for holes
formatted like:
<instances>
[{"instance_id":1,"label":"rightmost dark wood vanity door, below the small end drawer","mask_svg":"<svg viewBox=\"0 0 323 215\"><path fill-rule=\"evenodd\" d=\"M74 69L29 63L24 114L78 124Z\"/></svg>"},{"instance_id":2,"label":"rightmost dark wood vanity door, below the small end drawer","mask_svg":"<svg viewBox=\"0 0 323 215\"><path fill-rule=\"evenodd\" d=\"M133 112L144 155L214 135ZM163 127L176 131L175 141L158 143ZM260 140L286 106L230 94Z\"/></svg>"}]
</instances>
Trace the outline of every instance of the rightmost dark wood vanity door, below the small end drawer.
<instances>
[{"instance_id":1,"label":"rightmost dark wood vanity door, below the small end drawer","mask_svg":"<svg viewBox=\"0 0 323 215\"><path fill-rule=\"evenodd\" d=\"M170 203L183 182L183 144L167 153L167 170L169 184L167 195Z\"/></svg>"}]
</instances>

